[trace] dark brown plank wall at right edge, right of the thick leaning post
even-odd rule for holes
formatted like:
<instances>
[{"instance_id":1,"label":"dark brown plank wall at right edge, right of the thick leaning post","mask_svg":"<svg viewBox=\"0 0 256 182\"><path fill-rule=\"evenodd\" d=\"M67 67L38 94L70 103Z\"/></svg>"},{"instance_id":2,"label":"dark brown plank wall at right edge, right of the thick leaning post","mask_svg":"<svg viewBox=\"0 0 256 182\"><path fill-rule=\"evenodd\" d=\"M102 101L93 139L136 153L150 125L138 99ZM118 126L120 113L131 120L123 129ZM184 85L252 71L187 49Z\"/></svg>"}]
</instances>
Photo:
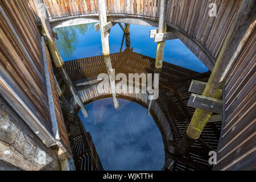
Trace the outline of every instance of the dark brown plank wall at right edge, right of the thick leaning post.
<instances>
[{"instance_id":1,"label":"dark brown plank wall at right edge, right of the thick leaning post","mask_svg":"<svg viewBox=\"0 0 256 182\"><path fill-rule=\"evenodd\" d=\"M224 84L224 122L214 170L256 169L256 32L245 43Z\"/></svg>"}]
</instances>

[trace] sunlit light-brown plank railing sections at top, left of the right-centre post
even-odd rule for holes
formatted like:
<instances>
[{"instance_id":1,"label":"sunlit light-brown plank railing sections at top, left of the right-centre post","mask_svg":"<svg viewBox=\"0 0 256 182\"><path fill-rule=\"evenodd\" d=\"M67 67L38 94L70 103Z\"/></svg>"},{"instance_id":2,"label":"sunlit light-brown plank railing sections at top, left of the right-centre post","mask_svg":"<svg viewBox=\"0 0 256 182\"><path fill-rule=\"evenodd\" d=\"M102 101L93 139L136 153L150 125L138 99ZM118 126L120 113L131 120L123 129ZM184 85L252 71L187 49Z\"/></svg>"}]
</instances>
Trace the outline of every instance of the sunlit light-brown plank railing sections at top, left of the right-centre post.
<instances>
[{"instance_id":1,"label":"sunlit light-brown plank railing sections at top, left of the right-centre post","mask_svg":"<svg viewBox=\"0 0 256 182\"><path fill-rule=\"evenodd\" d=\"M29 0L31 10L34 12L36 22L39 18L36 15L35 6ZM81 15L97 15L97 0L44 0L50 19L61 19L65 17ZM140 15L150 18L158 17L158 0L106 0L108 14Z\"/></svg>"}]
</instances>

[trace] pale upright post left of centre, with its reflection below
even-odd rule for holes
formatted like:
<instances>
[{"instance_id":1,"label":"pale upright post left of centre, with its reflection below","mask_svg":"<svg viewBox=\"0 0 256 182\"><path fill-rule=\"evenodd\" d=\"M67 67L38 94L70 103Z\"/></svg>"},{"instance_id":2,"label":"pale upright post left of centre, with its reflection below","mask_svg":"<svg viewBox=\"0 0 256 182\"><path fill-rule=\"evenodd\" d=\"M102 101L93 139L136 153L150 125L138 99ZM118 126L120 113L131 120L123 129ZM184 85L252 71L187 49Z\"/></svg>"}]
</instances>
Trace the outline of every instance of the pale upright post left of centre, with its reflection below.
<instances>
[{"instance_id":1,"label":"pale upright post left of centre, with its reflection below","mask_svg":"<svg viewBox=\"0 0 256 182\"><path fill-rule=\"evenodd\" d=\"M118 100L115 93L115 79L113 77L113 69L112 63L110 59L110 51L109 51L109 31L104 31L104 25L107 23L106 16L106 2L105 0L98 0L98 16L100 20L100 30L101 30L101 43L102 43L102 53L104 55L104 61L106 68L108 70L109 81L110 81L110 89L113 96L114 107L117 109L119 107Z\"/></svg>"}]
</instances>

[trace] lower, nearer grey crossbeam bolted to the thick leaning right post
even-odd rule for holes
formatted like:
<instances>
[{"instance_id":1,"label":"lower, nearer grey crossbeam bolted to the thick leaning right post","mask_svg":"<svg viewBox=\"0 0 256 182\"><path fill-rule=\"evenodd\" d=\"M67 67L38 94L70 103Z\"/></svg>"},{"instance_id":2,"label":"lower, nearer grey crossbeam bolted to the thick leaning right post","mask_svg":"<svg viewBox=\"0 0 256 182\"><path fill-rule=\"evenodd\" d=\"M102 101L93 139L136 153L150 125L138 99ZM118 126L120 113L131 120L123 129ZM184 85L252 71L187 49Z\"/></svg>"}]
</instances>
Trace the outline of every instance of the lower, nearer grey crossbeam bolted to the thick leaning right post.
<instances>
[{"instance_id":1,"label":"lower, nearer grey crossbeam bolted to the thick leaning right post","mask_svg":"<svg viewBox=\"0 0 256 182\"><path fill-rule=\"evenodd\" d=\"M222 114L222 101L216 98L191 94L188 100L188 106L210 111L211 113Z\"/></svg>"}]
</instances>

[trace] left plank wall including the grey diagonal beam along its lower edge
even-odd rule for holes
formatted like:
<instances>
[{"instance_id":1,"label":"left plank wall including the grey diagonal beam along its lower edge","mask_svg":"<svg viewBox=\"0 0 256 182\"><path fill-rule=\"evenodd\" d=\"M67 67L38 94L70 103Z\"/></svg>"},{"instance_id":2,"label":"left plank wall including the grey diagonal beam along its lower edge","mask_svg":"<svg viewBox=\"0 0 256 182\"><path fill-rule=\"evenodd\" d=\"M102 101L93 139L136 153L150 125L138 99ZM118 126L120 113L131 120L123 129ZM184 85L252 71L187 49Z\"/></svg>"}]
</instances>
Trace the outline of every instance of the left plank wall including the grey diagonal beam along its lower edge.
<instances>
[{"instance_id":1,"label":"left plank wall including the grey diagonal beam along its lower edge","mask_svg":"<svg viewBox=\"0 0 256 182\"><path fill-rule=\"evenodd\" d=\"M1 94L48 147L56 144L50 113L56 114L61 143L69 150L51 58L48 49L43 56L45 44L30 6L27 1L1 1L0 6ZM47 93L45 68L48 68L51 96ZM48 97L52 97L55 110L49 109Z\"/></svg>"}]
</instances>

